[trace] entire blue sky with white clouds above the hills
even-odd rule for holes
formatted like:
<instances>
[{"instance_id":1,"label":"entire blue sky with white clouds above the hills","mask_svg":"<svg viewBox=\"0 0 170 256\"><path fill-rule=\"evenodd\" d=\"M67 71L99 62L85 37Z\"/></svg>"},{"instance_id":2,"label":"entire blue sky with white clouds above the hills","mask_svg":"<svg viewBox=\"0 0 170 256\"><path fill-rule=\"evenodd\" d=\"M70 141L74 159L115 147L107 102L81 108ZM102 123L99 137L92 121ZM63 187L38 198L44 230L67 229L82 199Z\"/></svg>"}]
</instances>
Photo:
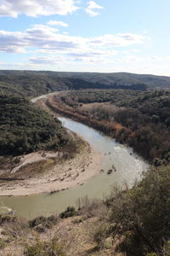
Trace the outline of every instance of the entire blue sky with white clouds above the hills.
<instances>
[{"instance_id":1,"label":"entire blue sky with white clouds above the hills","mask_svg":"<svg viewBox=\"0 0 170 256\"><path fill-rule=\"evenodd\" d=\"M0 69L170 76L170 0L0 0Z\"/></svg>"}]
</instances>

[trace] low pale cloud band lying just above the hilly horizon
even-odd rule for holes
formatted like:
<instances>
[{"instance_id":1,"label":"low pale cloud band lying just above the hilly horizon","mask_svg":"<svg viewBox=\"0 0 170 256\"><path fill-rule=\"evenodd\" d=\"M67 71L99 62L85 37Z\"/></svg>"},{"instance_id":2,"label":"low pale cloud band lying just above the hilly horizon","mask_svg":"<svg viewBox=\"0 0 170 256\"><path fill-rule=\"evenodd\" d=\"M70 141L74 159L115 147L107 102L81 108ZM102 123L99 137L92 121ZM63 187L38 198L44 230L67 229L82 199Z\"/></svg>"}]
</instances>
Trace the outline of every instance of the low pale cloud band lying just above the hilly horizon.
<instances>
[{"instance_id":1,"label":"low pale cloud band lying just above the hilly horizon","mask_svg":"<svg viewBox=\"0 0 170 256\"><path fill-rule=\"evenodd\" d=\"M97 50L96 50L97 52ZM1 69L29 69L29 70L54 70L54 71L77 71L77 72L129 72L129 73L155 73L169 75L170 57L165 56L137 56L123 55L122 51L117 56L95 55L96 52L60 55L59 52L42 53L31 56L28 60L17 62L0 63ZM78 53L78 52L77 52ZM94 55L93 55L94 53ZM100 52L99 52L100 53ZM89 56L88 56L89 54ZM154 58L153 58L154 57Z\"/></svg>"}]
</instances>

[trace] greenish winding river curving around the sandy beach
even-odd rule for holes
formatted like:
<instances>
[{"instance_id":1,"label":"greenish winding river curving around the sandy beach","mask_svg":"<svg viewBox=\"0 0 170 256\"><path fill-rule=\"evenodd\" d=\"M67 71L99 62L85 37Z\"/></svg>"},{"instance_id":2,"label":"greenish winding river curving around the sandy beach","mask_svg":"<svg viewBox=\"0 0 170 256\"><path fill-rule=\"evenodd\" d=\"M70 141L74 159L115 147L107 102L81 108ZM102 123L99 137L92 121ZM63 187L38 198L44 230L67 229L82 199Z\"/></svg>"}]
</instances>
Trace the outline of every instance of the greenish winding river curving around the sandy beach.
<instances>
[{"instance_id":1,"label":"greenish winding river curving around the sandy beach","mask_svg":"<svg viewBox=\"0 0 170 256\"><path fill-rule=\"evenodd\" d=\"M148 167L144 160L133 153L132 148L116 143L111 137L106 137L87 125L71 119L59 119L66 128L77 132L102 154L99 170L103 169L105 172L99 172L89 178L82 186L77 185L53 195L42 193L28 196L1 196L0 205L13 208L20 217L30 219L39 215L48 216L62 212L68 206L77 206L77 199L85 195L88 195L88 198L103 198L111 192L111 186L114 184L127 183L132 187L136 179L142 178L142 172ZM113 164L116 171L108 175L107 171Z\"/></svg>"}]
</instances>

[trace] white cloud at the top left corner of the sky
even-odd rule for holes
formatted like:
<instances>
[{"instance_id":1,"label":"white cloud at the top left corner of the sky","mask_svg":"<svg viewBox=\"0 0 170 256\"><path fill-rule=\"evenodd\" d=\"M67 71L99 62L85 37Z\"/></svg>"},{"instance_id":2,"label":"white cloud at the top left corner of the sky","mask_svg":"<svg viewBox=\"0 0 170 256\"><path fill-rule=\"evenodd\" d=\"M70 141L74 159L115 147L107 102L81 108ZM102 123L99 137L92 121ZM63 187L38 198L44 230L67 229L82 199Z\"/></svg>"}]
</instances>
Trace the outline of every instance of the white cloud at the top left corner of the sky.
<instances>
[{"instance_id":1,"label":"white cloud at the top left corner of the sky","mask_svg":"<svg viewBox=\"0 0 170 256\"><path fill-rule=\"evenodd\" d=\"M68 15L77 11L75 0L1 0L0 16L16 18L20 14L36 17L39 15Z\"/></svg>"}]
</instances>

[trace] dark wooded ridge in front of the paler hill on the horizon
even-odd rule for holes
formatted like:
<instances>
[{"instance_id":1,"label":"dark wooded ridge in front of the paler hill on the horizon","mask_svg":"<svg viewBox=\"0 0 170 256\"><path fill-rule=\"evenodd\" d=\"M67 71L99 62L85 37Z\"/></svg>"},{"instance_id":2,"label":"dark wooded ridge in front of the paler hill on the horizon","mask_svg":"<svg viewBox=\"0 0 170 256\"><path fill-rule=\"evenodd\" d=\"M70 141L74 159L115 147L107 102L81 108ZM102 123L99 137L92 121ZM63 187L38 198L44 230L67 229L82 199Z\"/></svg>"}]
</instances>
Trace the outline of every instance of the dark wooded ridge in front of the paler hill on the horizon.
<instances>
[{"instance_id":1,"label":"dark wooded ridge in front of the paler hill on the horizon","mask_svg":"<svg viewBox=\"0 0 170 256\"><path fill-rule=\"evenodd\" d=\"M14 94L16 96L40 96L59 90L82 89L111 89L124 88L131 90L146 90L145 84L101 84L89 82L84 79L60 78L49 75L0 75L0 93Z\"/></svg>"}]
</instances>

